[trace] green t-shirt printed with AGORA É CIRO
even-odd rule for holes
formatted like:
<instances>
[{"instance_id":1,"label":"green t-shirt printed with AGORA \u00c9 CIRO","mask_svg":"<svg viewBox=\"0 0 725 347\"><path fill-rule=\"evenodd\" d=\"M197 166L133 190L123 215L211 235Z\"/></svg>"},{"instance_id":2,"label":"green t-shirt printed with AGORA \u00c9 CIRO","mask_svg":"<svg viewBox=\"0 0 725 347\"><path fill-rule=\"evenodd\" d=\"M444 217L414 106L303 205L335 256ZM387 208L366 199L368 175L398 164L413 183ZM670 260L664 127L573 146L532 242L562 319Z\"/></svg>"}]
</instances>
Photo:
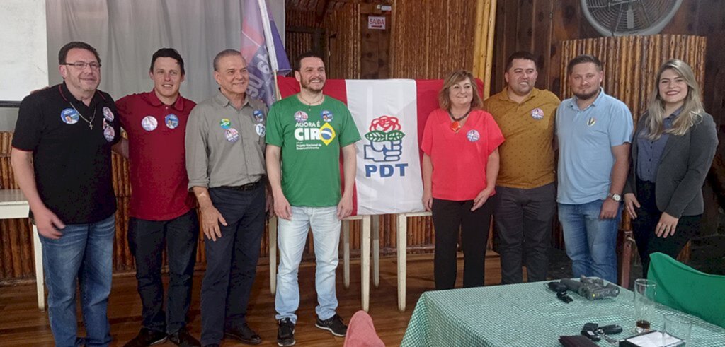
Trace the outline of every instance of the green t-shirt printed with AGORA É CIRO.
<instances>
[{"instance_id":1,"label":"green t-shirt printed with AGORA \u00c9 CIRO","mask_svg":"<svg viewBox=\"0 0 725 347\"><path fill-rule=\"evenodd\" d=\"M277 101L268 113L265 141L282 149L282 191L291 206L336 206L340 149L359 140L347 106L330 96L307 106L295 94Z\"/></svg>"}]
</instances>

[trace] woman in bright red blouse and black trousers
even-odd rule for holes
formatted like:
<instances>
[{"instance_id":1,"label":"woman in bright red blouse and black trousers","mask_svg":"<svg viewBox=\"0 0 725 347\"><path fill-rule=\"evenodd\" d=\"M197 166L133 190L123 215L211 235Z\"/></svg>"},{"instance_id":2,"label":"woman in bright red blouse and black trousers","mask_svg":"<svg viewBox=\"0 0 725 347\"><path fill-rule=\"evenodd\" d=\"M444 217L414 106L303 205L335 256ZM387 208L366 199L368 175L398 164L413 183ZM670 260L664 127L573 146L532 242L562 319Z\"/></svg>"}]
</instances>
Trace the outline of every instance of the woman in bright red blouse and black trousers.
<instances>
[{"instance_id":1,"label":"woman in bright red blouse and black trousers","mask_svg":"<svg viewBox=\"0 0 725 347\"><path fill-rule=\"evenodd\" d=\"M438 95L441 106L423 131L423 206L436 232L436 289L455 285L458 230L464 255L463 287L484 285L486 240L504 138L468 71L451 72Z\"/></svg>"}]
</instances>

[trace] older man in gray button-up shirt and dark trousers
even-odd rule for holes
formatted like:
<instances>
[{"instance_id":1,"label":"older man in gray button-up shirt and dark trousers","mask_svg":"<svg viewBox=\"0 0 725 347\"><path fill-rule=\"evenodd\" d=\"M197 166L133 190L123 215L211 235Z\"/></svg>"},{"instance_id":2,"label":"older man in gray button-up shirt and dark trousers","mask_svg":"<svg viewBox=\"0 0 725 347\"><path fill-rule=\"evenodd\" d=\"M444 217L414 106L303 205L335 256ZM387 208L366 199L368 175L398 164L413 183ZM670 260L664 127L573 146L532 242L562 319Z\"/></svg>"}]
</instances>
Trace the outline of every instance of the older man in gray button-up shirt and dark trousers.
<instances>
[{"instance_id":1,"label":"older man in gray button-up shirt and dark trousers","mask_svg":"<svg viewBox=\"0 0 725 347\"><path fill-rule=\"evenodd\" d=\"M214 59L215 96L196 105L186 126L186 171L202 212L207 271L202 282L202 344L225 337L257 344L247 325L265 227L267 108L249 99L239 51Z\"/></svg>"}]
</instances>

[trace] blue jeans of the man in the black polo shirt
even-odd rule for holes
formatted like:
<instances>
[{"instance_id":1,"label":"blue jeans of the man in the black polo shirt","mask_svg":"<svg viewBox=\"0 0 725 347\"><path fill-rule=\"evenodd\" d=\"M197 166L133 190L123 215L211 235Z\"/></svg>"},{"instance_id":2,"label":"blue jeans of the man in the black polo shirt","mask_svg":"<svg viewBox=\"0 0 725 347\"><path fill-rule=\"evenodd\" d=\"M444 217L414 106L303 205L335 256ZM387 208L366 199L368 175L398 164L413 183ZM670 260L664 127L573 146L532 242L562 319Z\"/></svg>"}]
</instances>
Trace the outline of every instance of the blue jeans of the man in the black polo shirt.
<instances>
[{"instance_id":1,"label":"blue jeans of the man in the black polo shirt","mask_svg":"<svg viewBox=\"0 0 725 347\"><path fill-rule=\"evenodd\" d=\"M66 225L57 240L40 235L48 316L56 346L107 346L111 342L106 312L111 293L115 221L112 214L91 224ZM76 279L86 325L85 339L77 337Z\"/></svg>"}]
</instances>

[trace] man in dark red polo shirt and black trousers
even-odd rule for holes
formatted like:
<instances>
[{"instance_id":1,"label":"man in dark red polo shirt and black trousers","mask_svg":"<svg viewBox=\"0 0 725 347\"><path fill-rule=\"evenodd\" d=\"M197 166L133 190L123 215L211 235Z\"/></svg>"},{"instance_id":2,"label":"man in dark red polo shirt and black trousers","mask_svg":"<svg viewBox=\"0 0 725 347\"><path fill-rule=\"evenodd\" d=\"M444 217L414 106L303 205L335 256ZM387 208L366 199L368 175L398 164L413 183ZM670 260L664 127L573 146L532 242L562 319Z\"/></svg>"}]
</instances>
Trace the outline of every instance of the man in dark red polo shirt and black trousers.
<instances>
[{"instance_id":1,"label":"man in dark red polo shirt and black trousers","mask_svg":"<svg viewBox=\"0 0 725 347\"><path fill-rule=\"evenodd\" d=\"M116 101L121 125L128 133L115 150L130 162L128 246L136 259L143 322L125 346L150 346L166 338L178 346L200 346L186 330L191 303L199 222L187 189L184 138L194 101L179 95L184 80L181 55L175 49L154 53L149 70L154 90ZM161 281L166 243L170 281L166 312Z\"/></svg>"}]
</instances>

